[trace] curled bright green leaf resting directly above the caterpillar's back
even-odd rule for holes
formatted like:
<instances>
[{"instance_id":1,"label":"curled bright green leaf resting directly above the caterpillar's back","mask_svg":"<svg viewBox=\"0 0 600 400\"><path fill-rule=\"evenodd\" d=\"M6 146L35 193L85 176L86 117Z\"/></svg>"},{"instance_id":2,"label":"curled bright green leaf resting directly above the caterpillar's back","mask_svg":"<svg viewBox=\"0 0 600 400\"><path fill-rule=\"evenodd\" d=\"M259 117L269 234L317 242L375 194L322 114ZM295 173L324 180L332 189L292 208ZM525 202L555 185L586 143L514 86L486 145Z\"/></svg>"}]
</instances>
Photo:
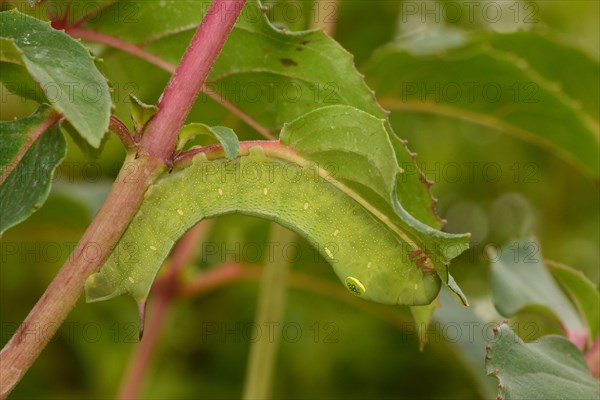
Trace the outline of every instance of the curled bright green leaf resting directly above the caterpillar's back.
<instances>
[{"instance_id":1,"label":"curled bright green leaf resting directly above the caterpillar's back","mask_svg":"<svg viewBox=\"0 0 600 400\"><path fill-rule=\"evenodd\" d=\"M281 143L315 162L345 187L357 202L403 240L414 243L415 258L434 267L442 281L466 298L448 273L447 264L468 248L469 235L435 230L407 213L397 196L402 174L386 131L386 121L349 106L312 111L285 125Z\"/></svg>"}]
</instances>

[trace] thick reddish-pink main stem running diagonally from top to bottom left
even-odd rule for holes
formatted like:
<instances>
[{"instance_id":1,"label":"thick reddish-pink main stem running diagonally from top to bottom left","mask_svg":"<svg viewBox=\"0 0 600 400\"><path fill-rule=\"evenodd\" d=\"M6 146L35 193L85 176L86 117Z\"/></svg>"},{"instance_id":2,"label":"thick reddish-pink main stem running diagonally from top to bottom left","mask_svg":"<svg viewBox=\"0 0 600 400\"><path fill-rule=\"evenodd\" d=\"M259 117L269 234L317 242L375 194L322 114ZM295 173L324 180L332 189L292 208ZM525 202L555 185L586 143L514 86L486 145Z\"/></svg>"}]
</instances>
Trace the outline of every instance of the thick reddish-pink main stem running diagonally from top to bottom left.
<instances>
[{"instance_id":1,"label":"thick reddish-pink main stem running diagonally from top to bottom left","mask_svg":"<svg viewBox=\"0 0 600 400\"><path fill-rule=\"evenodd\" d=\"M138 210L144 193L165 170L165 162L175 149L177 133L244 2L215 0L211 4L161 96L160 110L142 140L141 157L128 156L79 244L0 352L0 397L8 396L56 333L83 292L85 280L106 260ZM88 252L90 248L94 250L93 255ZM44 327L44 335L29 334L40 327Z\"/></svg>"}]
</instances>

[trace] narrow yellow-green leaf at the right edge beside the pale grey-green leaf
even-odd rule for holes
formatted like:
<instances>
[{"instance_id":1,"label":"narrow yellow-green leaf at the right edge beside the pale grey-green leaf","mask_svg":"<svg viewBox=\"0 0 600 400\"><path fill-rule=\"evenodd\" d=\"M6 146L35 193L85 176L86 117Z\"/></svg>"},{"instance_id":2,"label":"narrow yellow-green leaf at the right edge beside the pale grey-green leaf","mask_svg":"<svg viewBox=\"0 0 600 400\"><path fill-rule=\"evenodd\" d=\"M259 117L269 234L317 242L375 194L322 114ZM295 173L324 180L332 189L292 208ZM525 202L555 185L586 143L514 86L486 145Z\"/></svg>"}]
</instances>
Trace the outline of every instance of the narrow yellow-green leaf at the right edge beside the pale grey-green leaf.
<instances>
[{"instance_id":1,"label":"narrow yellow-green leaf at the right edge beside the pale grey-green leaf","mask_svg":"<svg viewBox=\"0 0 600 400\"><path fill-rule=\"evenodd\" d=\"M598 286L581 271L577 271L568 265L546 261L546 266L569 294L580 315L585 320L588 329L588 345L591 345L598 338L598 330L600 329Z\"/></svg>"}]
</instances>

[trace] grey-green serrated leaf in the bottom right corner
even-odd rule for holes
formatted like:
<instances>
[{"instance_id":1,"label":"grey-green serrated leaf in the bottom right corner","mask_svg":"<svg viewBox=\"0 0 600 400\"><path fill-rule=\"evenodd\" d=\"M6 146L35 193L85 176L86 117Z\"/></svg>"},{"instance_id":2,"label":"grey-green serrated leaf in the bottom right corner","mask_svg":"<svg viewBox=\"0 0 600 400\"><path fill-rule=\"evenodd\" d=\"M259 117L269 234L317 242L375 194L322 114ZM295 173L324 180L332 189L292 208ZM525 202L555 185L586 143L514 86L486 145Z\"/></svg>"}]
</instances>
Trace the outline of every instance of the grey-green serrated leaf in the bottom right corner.
<instances>
[{"instance_id":1,"label":"grey-green serrated leaf in the bottom right corner","mask_svg":"<svg viewBox=\"0 0 600 400\"><path fill-rule=\"evenodd\" d=\"M486 371L498 381L498 398L598 399L598 382L581 352L560 336L524 343L507 324L497 330Z\"/></svg>"}]
</instances>

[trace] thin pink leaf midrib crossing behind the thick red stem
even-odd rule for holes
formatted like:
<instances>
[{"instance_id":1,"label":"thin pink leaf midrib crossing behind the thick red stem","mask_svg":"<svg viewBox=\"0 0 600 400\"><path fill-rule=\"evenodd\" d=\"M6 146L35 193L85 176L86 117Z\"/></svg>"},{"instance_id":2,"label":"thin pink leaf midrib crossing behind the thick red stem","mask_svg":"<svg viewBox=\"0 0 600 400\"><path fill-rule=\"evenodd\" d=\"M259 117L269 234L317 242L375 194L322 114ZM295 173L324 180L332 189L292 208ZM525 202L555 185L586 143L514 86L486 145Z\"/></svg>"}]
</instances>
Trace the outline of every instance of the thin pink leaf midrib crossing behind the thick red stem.
<instances>
[{"instance_id":1,"label":"thin pink leaf midrib crossing behind the thick red stem","mask_svg":"<svg viewBox=\"0 0 600 400\"><path fill-rule=\"evenodd\" d=\"M137 46L133 43L127 42L125 40L119 39L114 36L106 35L96 31L90 31L85 28L81 28L79 26L69 27L65 29L69 35L83 40L88 40L91 42L101 43L112 48L121 50L123 52L129 53L136 57L141 58L153 64L163 70L174 73L176 66L169 63L168 61L163 60L162 58L147 52L142 49L140 46ZM221 96L219 93L215 92L208 85L204 84L202 86L202 92L205 93L208 97L210 97L215 102L221 104L225 107L229 112L236 115L239 119L244 121L248 126L256 130L259 134L266 137L267 139L275 139L275 136L271 133L269 128L263 126L260 122L256 121L250 115L246 114L244 111L240 110L235 104L231 103L225 97Z\"/></svg>"}]
</instances>

